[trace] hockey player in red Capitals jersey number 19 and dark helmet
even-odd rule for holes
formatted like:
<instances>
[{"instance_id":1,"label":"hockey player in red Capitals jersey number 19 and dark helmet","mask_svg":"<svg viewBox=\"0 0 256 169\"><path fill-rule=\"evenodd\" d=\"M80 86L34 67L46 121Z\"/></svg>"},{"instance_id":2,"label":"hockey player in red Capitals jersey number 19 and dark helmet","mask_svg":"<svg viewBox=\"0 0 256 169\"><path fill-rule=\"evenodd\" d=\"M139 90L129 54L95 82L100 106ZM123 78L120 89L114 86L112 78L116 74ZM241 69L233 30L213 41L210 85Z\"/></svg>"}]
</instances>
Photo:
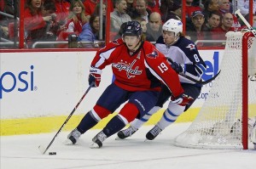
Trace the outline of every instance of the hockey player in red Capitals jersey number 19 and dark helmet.
<instances>
[{"instance_id":1,"label":"hockey player in red Capitals jersey number 19 and dark helmet","mask_svg":"<svg viewBox=\"0 0 256 169\"><path fill-rule=\"evenodd\" d=\"M119 114L113 116L106 127L92 138L90 148L101 148L106 138L154 107L161 83L178 102L188 103L190 100L183 94L178 75L165 56L150 42L144 41L141 25L137 21L127 22L122 39L110 42L96 53L91 62L89 84L99 86L102 69L106 65L112 65L114 82L102 93L93 109L84 115L79 126L67 136L66 144L75 144L81 134L127 101Z\"/></svg>"}]
</instances>

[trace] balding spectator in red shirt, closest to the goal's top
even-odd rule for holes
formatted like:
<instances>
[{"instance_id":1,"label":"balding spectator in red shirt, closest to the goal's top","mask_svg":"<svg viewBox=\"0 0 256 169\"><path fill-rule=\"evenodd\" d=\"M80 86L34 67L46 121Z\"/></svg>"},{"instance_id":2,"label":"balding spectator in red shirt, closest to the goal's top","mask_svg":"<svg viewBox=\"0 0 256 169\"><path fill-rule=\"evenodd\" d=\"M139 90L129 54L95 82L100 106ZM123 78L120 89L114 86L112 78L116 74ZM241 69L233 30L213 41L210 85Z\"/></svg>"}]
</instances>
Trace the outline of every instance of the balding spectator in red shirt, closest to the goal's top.
<instances>
[{"instance_id":1,"label":"balding spectator in red shirt, closest to the goal's top","mask_svg":"<svg viewBox=\"0 0 256 169\"><path fill-rule=\"evenodd\" d=\"M232 27L234 23L233 15L226 13L221 20L221 26L212 29L212 39L213 40L226 40L225 34L228 31L234 31Z\"/></svg>"}]
</instances>

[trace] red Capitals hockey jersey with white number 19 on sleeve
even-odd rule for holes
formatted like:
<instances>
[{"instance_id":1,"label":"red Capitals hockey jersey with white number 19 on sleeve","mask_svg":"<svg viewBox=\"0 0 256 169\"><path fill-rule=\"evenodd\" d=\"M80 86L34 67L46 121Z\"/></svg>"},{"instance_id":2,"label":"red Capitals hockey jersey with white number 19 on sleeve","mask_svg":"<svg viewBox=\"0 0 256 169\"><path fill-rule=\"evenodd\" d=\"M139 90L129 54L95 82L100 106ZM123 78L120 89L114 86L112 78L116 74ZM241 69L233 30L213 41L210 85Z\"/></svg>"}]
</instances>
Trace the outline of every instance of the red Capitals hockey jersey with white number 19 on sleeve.
<instances>
[{"instance_id":1,"label":"red Capitals hockey jersey with white number 19 on sleeve","mask_svg":"<svg viewBox=\"0 0 256 169\"><path fill-rule=\"evenodd\" d=\"M106 65L112 65L114 83L127 91L160 91L161 81L174 97L183 93L177 73L150 42L143 42L136 53L131 53L122 39L108 43L96 53L91 67L102 70Z\"/></svg>"}]
</instances>

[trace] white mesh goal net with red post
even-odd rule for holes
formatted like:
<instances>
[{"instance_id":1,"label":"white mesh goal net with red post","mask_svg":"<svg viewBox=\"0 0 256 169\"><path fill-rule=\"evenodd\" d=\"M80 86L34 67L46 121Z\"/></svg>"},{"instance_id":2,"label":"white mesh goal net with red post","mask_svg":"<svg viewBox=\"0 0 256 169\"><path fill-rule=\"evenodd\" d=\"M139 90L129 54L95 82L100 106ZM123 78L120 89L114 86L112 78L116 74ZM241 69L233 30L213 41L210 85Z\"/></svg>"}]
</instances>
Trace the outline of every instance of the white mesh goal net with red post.
<instances>
[{"instance_id":1,"label":"white mesh goal net with red post","mask_svg":"<svg viewBox=\"0 0 256 169\"><path fill-rule=\"evenodd\" d=\"M247 149L248 117L256 115L256 82L252 76L248 78L255 75L256 38L251 33L245 35L226 34L221 72L195 121L175 138L177 146Z\"/></svg>"}]
</instances>

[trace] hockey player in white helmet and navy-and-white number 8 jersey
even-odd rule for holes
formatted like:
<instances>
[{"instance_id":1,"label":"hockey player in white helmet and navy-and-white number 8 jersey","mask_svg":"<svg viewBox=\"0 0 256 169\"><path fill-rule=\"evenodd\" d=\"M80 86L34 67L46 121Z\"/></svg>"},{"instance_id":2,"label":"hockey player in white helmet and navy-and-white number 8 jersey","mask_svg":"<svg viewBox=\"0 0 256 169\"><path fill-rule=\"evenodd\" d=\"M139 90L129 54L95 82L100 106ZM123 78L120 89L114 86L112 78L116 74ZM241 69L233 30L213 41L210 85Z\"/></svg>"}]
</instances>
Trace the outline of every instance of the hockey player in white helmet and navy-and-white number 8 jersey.
<instances>
[{"instance_id":1,"label":"hockey player in white helmet and navy-and-white number 8 jersey","mask_svg":"<svg viewBox=\"0 0 256 169\"><path fill-rule=\"evenodd\" d=\"M150 116L160 110L163 104L171 98L168 108L165 110L160 121L146 134L146 138L153 140L161 131L176 121L178 115L188 110L201 93L202 85L189 81L186 78L186 76L189 76L199 81L207 69L205 62L198 53L195 43L183 36L183 24L179 20L167 20L162 30L163 34L159 37L155 46L162 54L165 54L166 58L170 61L172 69L177 71L181 85L185 91L184 93L192 99L189 103L181 104L178 100L172 99L172 93L163 85L154 108L140 119L131 121L130 127L119 131L118 138L120 139L130 137L134 132L137 132L138 128L142 127L143 123L148 121Z\"/></svg>"}]
</instances>

